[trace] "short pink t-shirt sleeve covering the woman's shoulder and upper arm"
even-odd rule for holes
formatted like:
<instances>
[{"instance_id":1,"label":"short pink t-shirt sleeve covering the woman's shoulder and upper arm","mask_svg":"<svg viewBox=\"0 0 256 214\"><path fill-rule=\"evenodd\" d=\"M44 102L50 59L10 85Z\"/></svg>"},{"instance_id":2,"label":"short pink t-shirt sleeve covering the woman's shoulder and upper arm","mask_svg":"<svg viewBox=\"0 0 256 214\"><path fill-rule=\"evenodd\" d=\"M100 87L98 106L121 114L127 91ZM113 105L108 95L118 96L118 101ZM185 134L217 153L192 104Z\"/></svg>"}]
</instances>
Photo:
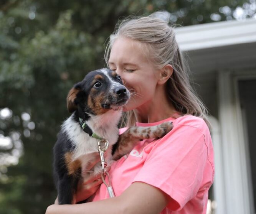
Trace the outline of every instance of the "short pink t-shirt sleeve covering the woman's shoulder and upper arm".
<instances>
[{"instance_id":1,"label":"short pink t-shirt sleeve covering the woman's shoulder and upper arm","mask_svg":"<svg viewBox=\"0 0 256 214\"><path fill-rule=\"evenodd\" d=\"M205 167L211 167L208 163L211 140L205 137L204 130L208 127L204 121L197 122L196 127L182 122L173 122L173 125L173 129L155 143L133 182L144 182L161 189L171 197L167 207L180 210L196 196ZM212 182L213 175L210 175L205 185L210 188Z\"/></svg>"}]
</instances>

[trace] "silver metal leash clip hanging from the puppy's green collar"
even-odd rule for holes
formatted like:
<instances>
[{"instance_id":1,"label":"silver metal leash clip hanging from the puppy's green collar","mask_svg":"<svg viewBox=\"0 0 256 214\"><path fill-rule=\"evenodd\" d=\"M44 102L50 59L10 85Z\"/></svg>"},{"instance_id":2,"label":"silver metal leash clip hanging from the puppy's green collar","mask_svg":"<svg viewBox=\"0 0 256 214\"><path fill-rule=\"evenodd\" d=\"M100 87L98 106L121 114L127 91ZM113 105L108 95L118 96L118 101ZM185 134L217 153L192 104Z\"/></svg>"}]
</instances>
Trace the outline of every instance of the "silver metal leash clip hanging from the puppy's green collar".
<instances>
[{"instance_id":1,"label":"silver metal leash clip hanging from the puppy's green collar","mask_svg":"<svg viewBox=\"0 0 256 214\"><path fill-rule=\"evenodd\" d=\"M99 147L98 151L99 151L99 156L101 157L101 166L102 166L101 179L107 187L109 197L113 198L113 197L115 197L115 193L114 193L114 190L111 186L111 178L109 176L109 173L106 171L107 162L105 161L105 158L104 158L104 152L107 150L107 148L109 148L108 140L106 140L106 139L99 140L98 147ZM108 184L105 181L106 176L109 180Z\"/></svg>"}]
</instances>

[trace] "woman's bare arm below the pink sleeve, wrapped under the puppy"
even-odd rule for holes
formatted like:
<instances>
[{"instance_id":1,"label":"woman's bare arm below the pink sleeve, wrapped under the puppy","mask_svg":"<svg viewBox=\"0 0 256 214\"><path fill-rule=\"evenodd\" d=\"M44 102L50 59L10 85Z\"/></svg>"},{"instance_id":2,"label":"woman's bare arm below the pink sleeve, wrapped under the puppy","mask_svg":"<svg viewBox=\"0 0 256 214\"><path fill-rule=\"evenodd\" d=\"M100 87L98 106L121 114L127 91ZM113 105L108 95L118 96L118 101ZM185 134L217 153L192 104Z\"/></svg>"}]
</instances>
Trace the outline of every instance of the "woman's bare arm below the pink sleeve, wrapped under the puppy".
<instances>
[{"instance_id":1,"label":"woman's bare arm below the pink sleeve, wrapped under the puppy","mask_svg":"<svg viewBox=\"0 0 256 214\"><path fill-rule=\"evenodd\" d=\"M121 196L74 205L51 205L46 214L159 214L170 196L158 188L135 182Z\"/></svg>"}]
</instances>

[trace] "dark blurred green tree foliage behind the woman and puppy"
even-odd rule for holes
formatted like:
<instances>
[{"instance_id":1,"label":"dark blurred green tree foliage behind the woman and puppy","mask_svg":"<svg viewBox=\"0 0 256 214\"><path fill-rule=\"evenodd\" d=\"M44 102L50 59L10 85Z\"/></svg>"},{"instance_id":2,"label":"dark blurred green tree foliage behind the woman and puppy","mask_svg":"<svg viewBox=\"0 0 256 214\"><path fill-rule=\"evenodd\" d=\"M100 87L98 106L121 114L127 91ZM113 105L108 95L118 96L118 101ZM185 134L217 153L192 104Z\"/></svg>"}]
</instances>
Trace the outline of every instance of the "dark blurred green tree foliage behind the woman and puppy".
<instances>
[{"instance_id":1,"label":"dark blurred green tree foliage behind the woman and puppy","mask_svg":"<svg viewBox=\"0 0 256 214\"><path fill-rule=\"evenodd\" d=\"M88 71L105 66L104 43L120 17L167 10L174 23L191 25L213 21L213 13L232 18L243 3L2 0L0 110L7 107L12 114L0 117L0 137L12 141L0 146L0 213L40 214L53 203L52 148L68 117L66 95ZM220 13L227 5L230 14ZM31 117L23 118L24 112Z\"/></svg>"}]
</instances>

